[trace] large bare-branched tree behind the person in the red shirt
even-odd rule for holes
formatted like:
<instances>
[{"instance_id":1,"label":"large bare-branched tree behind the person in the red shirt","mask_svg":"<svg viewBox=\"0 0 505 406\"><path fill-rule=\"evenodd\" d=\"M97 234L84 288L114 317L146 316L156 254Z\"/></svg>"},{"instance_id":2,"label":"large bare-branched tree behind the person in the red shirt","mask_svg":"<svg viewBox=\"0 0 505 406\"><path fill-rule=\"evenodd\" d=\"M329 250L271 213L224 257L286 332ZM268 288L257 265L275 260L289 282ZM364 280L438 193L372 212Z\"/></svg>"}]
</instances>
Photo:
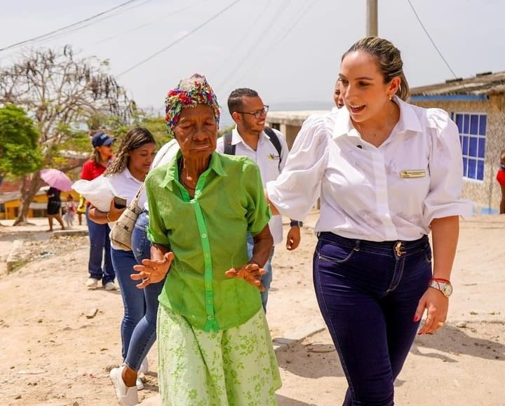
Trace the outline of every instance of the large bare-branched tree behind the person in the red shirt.
<instances>
[{"instance_id":1,"label":"large bare-branched tree behind the person in the red shirt","mask_svg":"<svg viewBox=\"0 0 505 406\"><path fill-rule=\"evenodd\" d=\"M97 115L126 123L130 104L125 90L107 73L107 62L76 59L70 46L32 50L20 62L0 69L0 103L17 104L32 116L44 165L61 170L70 168L58 159L60 147L76 130L87 130L87 123ZM42 184L39 172L22 178L21 207L14 225L27 223L29 203Z\"/></svg>"}]
</instances>

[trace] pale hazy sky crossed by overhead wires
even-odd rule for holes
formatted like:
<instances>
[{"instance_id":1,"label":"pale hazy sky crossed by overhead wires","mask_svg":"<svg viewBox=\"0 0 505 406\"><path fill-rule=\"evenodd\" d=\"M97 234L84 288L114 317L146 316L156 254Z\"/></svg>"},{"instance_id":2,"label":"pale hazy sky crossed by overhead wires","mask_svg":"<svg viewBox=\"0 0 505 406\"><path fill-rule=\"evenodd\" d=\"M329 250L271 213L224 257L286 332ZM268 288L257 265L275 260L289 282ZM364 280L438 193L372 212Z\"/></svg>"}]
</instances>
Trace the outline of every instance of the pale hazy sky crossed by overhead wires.
<instances>
[{"instance_id":1,"label":"pale hazy sky crossed by overhead wires","mask_svg":"<svg viewBox=\"0 0 505 406\"><path fill-rule=\"evenodd\" d=\"M125 1L6 1L0 48ZM505 71L505 1L410 3L456 76ZM223 107L238 87L254 88L266 104L317 101L330 107L342 53L365 36L365 6L365 0L138 0L121 13L27 46L68 43L82 57L110 60L110 72L119 75L119 83L143 108L160 109L166 91L194 72L207 76ZM379 0L379 36L401 50L411 87L454 77L408 0ZM0 51L0 66L9 65L22 49Z\"/></svg>"}]
</instances>

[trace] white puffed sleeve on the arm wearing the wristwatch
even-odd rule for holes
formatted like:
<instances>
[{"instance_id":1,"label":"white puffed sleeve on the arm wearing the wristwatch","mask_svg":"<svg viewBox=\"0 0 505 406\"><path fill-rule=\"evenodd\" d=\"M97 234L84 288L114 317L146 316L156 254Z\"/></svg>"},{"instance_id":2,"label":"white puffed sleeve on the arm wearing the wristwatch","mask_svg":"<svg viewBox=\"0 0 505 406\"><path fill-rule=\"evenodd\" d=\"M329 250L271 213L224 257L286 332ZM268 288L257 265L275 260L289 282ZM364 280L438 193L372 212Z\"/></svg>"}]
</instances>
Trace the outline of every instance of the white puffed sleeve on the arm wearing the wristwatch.
<instances>
[{"instance_id":1,"label":"white puffed sleeve on the arm wearing the wristwatch","mask_svg":"<svg viewBox=\"0 0 505 406\"><path fill-rule=\"evenodd\" d=\"M462 198L463 162L459 131L440 109L428 112L430 189L424 201L424 220L471 216L471 202Z\"/></svg>"}]
</instances>

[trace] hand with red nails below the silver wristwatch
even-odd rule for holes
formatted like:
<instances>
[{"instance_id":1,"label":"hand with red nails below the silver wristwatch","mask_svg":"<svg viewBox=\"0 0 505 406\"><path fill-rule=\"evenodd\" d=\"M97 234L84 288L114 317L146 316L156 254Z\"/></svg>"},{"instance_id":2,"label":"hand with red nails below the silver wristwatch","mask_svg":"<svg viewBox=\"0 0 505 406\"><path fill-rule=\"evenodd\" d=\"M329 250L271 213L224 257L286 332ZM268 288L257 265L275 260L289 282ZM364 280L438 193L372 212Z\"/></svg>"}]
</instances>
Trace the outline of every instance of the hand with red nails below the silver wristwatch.
<instances>
[{"instance_id":1,"label":"hand with red nails below the silver wristwatch","mask_svg":"<svg viewBox=\"0 0 505 406\"><path fill-rule=\"evenodd\" d=\"M426 309L426 319L417 334L433 334L447 319L447 310L449 309L449 299L442 292L431 287L424 292L414 316L414 321L420 320ZM442 323L440 325L440 323Z\"/></svg>"}]
</instances>

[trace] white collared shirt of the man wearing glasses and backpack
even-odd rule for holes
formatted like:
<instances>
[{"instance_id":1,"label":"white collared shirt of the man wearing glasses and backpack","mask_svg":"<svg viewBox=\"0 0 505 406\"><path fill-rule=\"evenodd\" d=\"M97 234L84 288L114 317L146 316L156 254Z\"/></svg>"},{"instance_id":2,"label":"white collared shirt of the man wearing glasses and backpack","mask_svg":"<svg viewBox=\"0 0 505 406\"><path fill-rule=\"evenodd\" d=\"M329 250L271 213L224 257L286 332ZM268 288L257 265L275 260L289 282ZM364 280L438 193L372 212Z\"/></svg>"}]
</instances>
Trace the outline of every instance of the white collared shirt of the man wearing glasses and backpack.
<instances>
[{"instance_id":1,"label":"white collared shirt of the man wearing glasses and backpack","mask_svg":"<svg viewBox=\"0 0 505 406\"><path fill-rule=\"evenodd\" d=\"M274 131L279 142L281 142L280 157L276 147L274 147L274 144L271 143L270 137L264 133L264 131L260 134L256 151L249 147L248 144L245 144L241 135L238 134L236 126L231 131L231 144L235 145L235 155L248 156L250 159L255 161L255 163L260 167L263 187L266 186L267 182L277 179L288 158L288 144L286 143L283 133L278 130ZM216 151L221 154L224 153L224 137L220 137L217 140ZM280 164L279 159L281 160ZM272 236L274 237L274 245L281 243L281 241L283 241L282 217L280 215L272 216L269 222L269 228Z\"/></svg>"}]
</instances>

